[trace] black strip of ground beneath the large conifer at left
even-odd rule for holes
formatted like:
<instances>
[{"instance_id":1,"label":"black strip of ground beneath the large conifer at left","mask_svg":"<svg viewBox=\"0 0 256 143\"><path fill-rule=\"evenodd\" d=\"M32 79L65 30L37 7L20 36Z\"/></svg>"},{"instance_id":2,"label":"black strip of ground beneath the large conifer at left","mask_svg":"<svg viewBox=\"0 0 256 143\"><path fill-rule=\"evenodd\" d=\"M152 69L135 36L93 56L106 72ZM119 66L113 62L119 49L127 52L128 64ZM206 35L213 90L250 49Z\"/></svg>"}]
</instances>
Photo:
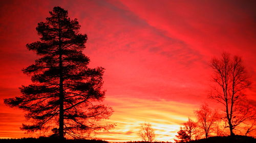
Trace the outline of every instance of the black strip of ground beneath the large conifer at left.
<instances>
[{"instance_id":1,"label":"black strip of ground beneath the large conifer at left","mask_svg":"<svg viewBox=\"0 0 256 143\"><path fill-rule=\"evenodd\" d=\"M60 142L58 139L54 138L20 138L20 139L0 139L1 143L58 143ZM63 143L109 143L104 140L87 140L87 139L67 139L65 141L61 141Z\"/></svg>"}]
</instances>

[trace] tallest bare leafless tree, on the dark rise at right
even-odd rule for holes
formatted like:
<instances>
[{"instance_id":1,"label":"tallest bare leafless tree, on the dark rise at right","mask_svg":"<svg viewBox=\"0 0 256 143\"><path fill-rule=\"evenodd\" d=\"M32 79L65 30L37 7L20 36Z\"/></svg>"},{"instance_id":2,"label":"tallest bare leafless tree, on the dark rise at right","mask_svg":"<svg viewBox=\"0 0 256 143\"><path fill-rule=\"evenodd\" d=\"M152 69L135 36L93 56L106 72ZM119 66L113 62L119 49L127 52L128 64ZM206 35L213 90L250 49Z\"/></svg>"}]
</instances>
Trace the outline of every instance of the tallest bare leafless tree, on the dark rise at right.
<instances>
[{"instance_id":1,"label":"tallest bare leafless tree, on the dark rise at right","mask_svg":"<svg viewBox=\"0 0 256 143\"><path fill-rule=\"evenodd\" d=\"M223 53L221 59L213 58L210 64L215 72L212 79L216 85L209 96L224 105L224 119L233 136L233 130L253 116L244 94L251 82L239 56L230 58L230 54Z\"/></svg>"}]
</instances>

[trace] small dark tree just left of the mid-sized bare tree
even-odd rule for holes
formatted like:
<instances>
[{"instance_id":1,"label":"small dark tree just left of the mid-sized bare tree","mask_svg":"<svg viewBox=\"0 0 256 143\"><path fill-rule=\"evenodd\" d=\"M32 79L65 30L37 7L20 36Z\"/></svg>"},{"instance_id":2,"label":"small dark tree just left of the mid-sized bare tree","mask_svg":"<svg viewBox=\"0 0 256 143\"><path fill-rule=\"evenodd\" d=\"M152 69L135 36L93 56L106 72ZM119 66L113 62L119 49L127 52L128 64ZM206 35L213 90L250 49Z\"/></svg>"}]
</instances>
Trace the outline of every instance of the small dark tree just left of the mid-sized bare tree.
<instances>
[{"instance_id":1,"label":"small dark tree just left of the mid-sized bare tree","mask_svg":"<svg viewBox=\"0 0 256 143\"><path fill-rule=\"evenodd\" d=\"M191 141L194 135L197 133L197 123L188 118L188 121L183 123L184 130L187 132L188 140Z\"/></svg>"}]
</instances>

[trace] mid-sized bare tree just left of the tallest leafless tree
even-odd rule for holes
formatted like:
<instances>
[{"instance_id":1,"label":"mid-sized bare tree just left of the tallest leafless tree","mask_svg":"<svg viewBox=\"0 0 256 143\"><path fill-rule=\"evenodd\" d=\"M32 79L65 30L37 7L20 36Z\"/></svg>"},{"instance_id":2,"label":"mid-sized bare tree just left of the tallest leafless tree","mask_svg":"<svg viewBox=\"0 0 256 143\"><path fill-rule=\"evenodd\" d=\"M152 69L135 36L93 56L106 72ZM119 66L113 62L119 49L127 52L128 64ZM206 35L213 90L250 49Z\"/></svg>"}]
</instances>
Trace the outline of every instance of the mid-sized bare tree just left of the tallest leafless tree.
<instances>
[{"instance_id":1,"label":"mid-sized bare tree just left of the tallest leafless tree","mask_svg":"<svg viewBox=\"0 0 256 143\"><path fill-rule=\"evenodd\" d=\"M212 111L208 104L205 103L195 113L198 120L198 127L204 131L205 138L208 138L210 131L214 128L215 122L219 119L217 111Z\"/></svg>"}]
</instances>

